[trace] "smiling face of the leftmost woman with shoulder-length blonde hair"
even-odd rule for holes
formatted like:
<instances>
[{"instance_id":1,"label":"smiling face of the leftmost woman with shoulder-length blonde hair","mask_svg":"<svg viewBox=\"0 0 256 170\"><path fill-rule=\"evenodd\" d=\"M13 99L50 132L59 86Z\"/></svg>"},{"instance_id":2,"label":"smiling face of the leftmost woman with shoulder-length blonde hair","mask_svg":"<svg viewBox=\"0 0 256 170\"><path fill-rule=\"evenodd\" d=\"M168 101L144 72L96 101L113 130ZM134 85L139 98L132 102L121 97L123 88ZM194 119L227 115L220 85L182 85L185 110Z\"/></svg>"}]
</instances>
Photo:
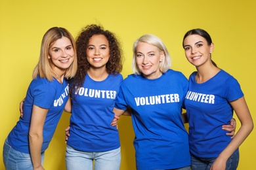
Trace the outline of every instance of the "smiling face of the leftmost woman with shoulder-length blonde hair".
<instances>
[{"instance_id":1,"label":"smiling face of the leftmost woman with shoulder-length blonde hair","mask_svg":"<svg viewBox=\"0 0 256 170\"><path fill-rule=\"evenodd\" d=\"M54 71L66 71L74 61L74 48L67 37L62 37L49 47L48 58L54 64Z\"/></svg>"}]
</instances>

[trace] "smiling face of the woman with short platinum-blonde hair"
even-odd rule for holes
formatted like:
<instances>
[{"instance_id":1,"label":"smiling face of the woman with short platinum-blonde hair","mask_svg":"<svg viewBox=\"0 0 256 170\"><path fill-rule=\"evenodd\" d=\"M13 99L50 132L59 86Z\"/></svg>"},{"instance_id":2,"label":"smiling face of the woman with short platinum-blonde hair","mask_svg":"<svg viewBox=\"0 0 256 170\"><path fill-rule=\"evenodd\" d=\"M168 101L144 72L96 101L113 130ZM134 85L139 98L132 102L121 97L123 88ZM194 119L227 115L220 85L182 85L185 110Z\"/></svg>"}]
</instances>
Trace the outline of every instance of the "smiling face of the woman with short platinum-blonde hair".
<instances>
[{"instance_id":1,"label":"smiling face of the woman with short platinum-blonde hair","mask_svg":"<svg viewBox=\"0 0 256 170\"><path fill-rule=\"evenodd\" d=\"M164 53L156 46L146 42L139 42L137 45L136 63L140 72L148 79L155 79L161 76L159 69Z\"/></svg>"}]
</instances>

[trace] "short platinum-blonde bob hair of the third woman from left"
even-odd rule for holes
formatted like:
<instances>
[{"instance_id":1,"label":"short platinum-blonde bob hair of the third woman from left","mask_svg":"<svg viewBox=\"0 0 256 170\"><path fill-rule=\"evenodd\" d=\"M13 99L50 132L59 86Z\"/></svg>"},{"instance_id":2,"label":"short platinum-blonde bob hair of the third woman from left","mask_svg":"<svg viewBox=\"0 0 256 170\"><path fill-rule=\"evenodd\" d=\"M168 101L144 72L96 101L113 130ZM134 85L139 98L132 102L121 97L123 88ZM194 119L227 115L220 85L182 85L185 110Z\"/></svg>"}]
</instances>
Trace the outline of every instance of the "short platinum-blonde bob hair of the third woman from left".
<instances>
[{"instance_id":1,"label":"short platinum-blonde bob hair of the third woman from left","mask_svg":"<svg viewBox=\"0 0 256 170\"><path fill-rule=\"evenodd\" d=\"M166 71L168 71L168 69L171 67L171 56L167 48L165 47L165 44L163 44L163 41L161 41L160 38L156 37L156 35L146 34L146 35L142 35L133 44L133 65L132 65L133 73L135 73L135 75L141 75L141 71L136 63L137 46L139 42L146 42L148 44L156 46L160 51L163 51L165 54L165 58L163 59L163 61L161 61L159 65L159 69L161 73L165 73Z\"/></svg>"}]
</instances>

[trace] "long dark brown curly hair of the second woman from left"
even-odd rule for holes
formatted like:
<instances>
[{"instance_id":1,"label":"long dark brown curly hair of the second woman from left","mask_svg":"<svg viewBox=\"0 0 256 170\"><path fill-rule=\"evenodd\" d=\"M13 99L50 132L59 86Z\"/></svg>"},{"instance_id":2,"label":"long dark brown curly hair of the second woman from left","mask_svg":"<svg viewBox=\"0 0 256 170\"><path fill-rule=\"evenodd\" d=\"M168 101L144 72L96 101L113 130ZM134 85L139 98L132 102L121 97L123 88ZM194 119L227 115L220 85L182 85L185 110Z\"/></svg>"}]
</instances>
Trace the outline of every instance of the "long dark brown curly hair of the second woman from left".
<instances>
[{"instance_id":1,"label":"long dark brown curly hair of the second woman from left","mask_svg":"<svg viewBox=\"0 0 256 170\"><path fill-rule=\"evenodd\" d=\"M116 75L116 73L121 72L123 68L123 52L121 50L120 42L116 38L116 35L108 30L104 30L102 25L87 25L81 29L81 32L75 41L78 68L74 78L72 78L70 81L72 82L70 90L74 90L75 86L77 88L81 87L85 81L85 76L90 68L90 63L87 61L86 51L89 44L89 39L93 37L93 35L104 35L109 42L110 59L106 63L107 73Z\"/></svg>"}]
</instances>

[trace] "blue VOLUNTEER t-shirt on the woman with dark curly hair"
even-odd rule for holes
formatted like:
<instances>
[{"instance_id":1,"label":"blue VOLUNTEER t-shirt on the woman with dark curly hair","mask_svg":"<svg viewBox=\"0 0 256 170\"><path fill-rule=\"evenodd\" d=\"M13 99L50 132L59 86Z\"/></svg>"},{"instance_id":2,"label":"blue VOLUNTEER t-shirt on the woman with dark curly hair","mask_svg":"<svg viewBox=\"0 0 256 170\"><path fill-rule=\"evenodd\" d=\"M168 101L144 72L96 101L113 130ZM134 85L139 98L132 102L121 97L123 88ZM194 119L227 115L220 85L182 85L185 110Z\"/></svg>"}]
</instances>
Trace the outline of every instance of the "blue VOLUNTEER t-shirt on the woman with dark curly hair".
<instances>
[{"instance_id":1,"label":"blue VOLUNTEER t-shirt on the woman with dark curly hair","mask_svg":"<svg viewBox=\"0 0 256 170\"><path fill-rule=\"evenodd\" d=\"M122 81L119 73L102 81L86 75L83 86L72 94L69 146L84 152L106 152L120 147L116 126L110 123Z\"/></svg>"}]
</instances>

